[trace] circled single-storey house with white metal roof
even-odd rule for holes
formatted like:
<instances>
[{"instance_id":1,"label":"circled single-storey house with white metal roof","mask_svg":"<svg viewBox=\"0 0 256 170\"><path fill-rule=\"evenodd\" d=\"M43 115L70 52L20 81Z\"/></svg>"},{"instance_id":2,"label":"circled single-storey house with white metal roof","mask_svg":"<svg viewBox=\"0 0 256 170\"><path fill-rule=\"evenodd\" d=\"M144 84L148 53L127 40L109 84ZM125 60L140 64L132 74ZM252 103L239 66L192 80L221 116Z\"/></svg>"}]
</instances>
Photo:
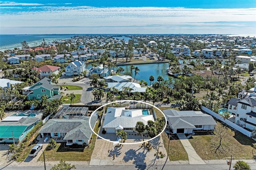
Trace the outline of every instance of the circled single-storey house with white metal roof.
<instances>
[{"instance_id":1,"label":"circled single-storey house with white metal roof","mask_svg":"<svg viewBox=\"0 0 256 170\"><path fill-rule=\"evenodd\" d=\"M107 133L117 133L120 130L125 132L136 132L136 123L154 121L153 115L143 115L142 109L125 109L125 107L108 107L103 115L104 123L102 128Z\"/></svg>"}]
</instances>

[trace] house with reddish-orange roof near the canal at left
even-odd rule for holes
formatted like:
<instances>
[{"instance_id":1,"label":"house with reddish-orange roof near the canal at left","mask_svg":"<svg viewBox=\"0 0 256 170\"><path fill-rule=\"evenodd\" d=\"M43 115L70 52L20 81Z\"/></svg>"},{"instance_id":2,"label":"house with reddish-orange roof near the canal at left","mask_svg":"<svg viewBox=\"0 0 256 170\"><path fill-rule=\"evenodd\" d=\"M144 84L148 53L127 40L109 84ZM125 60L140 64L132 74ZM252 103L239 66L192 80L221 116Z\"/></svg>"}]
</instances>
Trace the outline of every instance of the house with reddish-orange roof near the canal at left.
<instances>
[{"instance_id":1,"label":"house with reddish-orange roof near the canal at left","mask_svg":"<svg viewBox=\"0 0 256 170\"><path fill-rule=\"evenodd\" d=\"M60 67L53 66L53 65L44 65L39 68L33 67L31 70L38 71L38 73L40 75L40 79L42 79L44 77L48 77L52 73L57 75L60 71Z\"/></svg>"}]
</instances>

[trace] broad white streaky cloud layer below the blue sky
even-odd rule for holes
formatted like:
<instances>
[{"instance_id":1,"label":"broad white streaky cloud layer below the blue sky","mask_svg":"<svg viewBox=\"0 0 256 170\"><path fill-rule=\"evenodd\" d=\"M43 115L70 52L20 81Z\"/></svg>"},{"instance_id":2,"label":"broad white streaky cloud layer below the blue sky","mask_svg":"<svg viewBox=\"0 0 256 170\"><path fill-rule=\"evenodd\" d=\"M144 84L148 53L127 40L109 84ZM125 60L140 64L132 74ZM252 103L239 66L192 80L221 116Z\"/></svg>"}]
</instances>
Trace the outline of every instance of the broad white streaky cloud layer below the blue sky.
<instances>
[{"instance_id":1,"label":"broad white streaky cloud layer below the blue sky","mask_svg":"<svg viewBox=\"0 0 256 170\"><path fill-rule=\"evenodd\" d=\"M5 28L14 30L14 27L24 27L17 28L17 31L27 31L23 34L32 34L29 31L38 31L36 34L43 34L43 30L44 33L48 31L48 34L172 34L172 31L183 34L196 34L196 32L198 34L237 34L246 30L250 31L250 34L256 34L256 8L96 8L90 6L37 6L35 8L39 10L1 15L1 34L8 34L5 33L8 31ZM248 23L252 23L250 28ZM30 27L33 29L29 29Z\"/></svg>"}]
</instances>

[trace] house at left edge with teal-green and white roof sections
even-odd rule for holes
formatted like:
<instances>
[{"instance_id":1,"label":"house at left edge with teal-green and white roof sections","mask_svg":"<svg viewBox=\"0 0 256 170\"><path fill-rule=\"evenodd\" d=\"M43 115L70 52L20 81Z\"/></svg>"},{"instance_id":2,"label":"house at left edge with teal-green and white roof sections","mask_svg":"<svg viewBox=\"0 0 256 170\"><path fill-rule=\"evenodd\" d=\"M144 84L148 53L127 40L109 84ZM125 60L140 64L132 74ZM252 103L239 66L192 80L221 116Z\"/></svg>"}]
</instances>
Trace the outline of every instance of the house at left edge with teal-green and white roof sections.
<instances>
[{"instance_id":1,"label":"house at left edge with teal-green and white roof sections","mask_svg":"<svg viewBox=\"0 0 256 170\"><path fill-rule=\"evenodd\" d=\"M27 116L8 116L0 122L0 143L18 143L39 122L39 118ZM13 132L13 136L12 136Z\"/></svg>"}]
</instances>

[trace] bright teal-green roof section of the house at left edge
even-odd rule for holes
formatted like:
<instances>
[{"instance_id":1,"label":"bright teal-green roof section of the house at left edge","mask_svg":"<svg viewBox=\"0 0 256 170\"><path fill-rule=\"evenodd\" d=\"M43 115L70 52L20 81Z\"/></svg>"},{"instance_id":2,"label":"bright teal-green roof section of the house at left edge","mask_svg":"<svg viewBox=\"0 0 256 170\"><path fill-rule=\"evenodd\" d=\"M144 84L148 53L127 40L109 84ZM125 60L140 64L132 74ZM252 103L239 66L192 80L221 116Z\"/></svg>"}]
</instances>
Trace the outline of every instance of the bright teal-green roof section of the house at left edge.
<instances>
[{"instance_id":1,"label":"bright teal-green roof section of the house at left edge","mask_svg":"<svg viewBox=\"0 0 256 170\"><path fill-rule=\"evenodd\" d=\"M0 126L0 138L19 138L27 126Z\"/></svg>"}]
</instances>

